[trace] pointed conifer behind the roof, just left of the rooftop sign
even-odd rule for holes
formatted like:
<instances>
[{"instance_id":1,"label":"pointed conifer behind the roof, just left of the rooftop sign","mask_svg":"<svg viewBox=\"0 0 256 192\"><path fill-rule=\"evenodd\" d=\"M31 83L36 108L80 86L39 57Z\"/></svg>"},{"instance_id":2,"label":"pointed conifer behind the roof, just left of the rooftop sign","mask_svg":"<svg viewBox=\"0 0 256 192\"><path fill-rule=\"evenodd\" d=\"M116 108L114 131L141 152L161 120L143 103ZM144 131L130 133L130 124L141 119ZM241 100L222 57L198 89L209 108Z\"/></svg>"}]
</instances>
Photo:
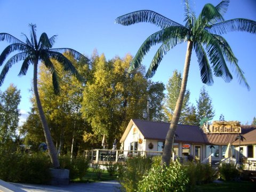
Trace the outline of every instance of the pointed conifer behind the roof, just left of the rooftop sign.
<instances>
[{"instance_id":1,"label":"pointed conifer behind the roof, just left of the rooftop sign","mask_svg":"<svg viewBox=\"0 0 256 192\"><path fill-rule=\"evenodd\" d=\"M197 118L201 121L203 118L212 119L215 115L215 111L212 106L212 99L205 90L205 86L200 90L200 95L197 103Z\"/></svg>"}]
</instances>

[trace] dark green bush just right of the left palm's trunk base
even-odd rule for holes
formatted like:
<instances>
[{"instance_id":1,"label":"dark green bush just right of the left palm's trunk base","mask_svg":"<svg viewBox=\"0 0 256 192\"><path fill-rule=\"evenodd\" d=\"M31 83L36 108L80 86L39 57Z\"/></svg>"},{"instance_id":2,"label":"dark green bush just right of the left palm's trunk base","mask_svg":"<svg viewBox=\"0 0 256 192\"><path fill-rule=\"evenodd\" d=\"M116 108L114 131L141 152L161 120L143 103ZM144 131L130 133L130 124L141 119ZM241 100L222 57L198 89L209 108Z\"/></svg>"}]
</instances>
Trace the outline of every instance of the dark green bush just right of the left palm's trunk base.
<instances>
[{"instance_id":1,"label":"dark green bush just right of the left palm's trunk base","mask_svg":"<svg viewBox=\"0 0 256 192\"><path fill-rule=\"evenodd\" d=\"M63 155L60 157L60 166L62 169L69 170L70 179L82 180L89 168L89 161L82 156L77 156L70 161L69 155Z\"/></svg>"}]
</instances>

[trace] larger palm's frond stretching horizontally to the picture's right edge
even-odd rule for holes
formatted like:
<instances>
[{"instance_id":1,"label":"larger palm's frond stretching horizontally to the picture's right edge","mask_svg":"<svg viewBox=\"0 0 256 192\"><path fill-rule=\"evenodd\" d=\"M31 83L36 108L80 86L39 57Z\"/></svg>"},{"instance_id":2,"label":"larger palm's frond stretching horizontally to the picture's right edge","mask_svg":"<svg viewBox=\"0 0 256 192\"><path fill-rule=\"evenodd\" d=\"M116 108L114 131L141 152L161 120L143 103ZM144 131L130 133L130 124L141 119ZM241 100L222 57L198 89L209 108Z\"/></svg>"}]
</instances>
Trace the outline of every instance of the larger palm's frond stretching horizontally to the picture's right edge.
<instances>
[{"instance_id":1,"label":"larger palm's frond stretching horizontally to the picture's right edge","mask_svg":"<svg viewBox=\"0 0 256 192\"><path fill-rule=\"evenodd\" d=\"M256 34L256 21L237 18L216 23L212 26L206 27L205 29L210 33L219 35L232 31L245 31L251 34Z\"/></svg>"}]
</instances>

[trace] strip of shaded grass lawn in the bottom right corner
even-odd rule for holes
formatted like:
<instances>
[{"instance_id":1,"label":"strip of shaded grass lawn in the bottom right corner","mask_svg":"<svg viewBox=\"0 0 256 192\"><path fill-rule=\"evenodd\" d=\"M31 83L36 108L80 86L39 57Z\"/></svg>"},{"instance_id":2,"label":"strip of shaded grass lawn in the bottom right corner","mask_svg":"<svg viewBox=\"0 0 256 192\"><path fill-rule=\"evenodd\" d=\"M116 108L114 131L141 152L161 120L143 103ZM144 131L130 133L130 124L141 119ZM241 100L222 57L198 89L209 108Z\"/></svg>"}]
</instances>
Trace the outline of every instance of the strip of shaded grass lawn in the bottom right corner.
<instances>
[{"instance_id":1,"label":"strip of shaded grass lawn in the bottom right corner","mask_svg":"<svg viewBox=\"0 0 256 192\"><path fill-rule=\"evenodd\" d=\"M251 192L256 191L256 183L249 181L229 181L223 183L209 183L205 185L196 186L198 192Z\"/></svg>"}]
</instances>

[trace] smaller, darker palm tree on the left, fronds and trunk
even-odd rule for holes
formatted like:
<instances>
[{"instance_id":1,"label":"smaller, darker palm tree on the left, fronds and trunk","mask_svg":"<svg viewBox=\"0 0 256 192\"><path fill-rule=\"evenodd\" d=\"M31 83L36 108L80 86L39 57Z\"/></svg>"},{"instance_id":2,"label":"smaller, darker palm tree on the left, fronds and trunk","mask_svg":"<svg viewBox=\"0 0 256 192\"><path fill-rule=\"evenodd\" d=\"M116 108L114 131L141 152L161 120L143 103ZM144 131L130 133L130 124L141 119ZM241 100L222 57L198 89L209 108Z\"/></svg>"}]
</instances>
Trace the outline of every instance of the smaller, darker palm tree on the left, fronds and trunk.
<instances>
[{"instance_id":1,"label":"smaller, darker palm tree on the left, fronds and trunk","mask_svg":"<svg viewBox=\"0 0 256 192\"><path fill-rule=\"evenodd\" d=\"M69 48L58 48L52 49L52 45L55 42L55 35L51 38L48 38L46 33L43 33L39 41L37 42L36 38L36 25L30 24L31 27L31 37L29 38L25 36L26 41L22 42L19 39L15 38L14 36L7 34L7 33L0 33L0 41L7 41L10 43L2 54L0 55L0 66L3 65L6 58L13 52L18 51L17 54L14 54L9 60L6 61L2 72L0 74L0 86L4 82L4 78L9 71L9 69L17 62L23 61L19 76L26 75L29 65L34 65L34 77L33 77L33 87L34 87L34 94L36 98L37 109L39 113L39 117L41 119L41 123L43 126L44 136L47 143L47 148L49 151L49 155L51 158L51 162L54 168L60 167L58 156L56 153L55 146L52 141L51 133L49 127L46 122L46 118L44 115L44 111L42 108L41 100L39 98L38 89L37 89L37 67L38 62L41 61L44 65L51 71L52 74L52 83L54 88L54 93L59 93L59 82L58 82L58 71L55 69L52 61L50 59L55 59L60 62L65 70L71 71L78 79L82 79L79 76L78 71L73 66L71 61L69 61L62 53L68 52L74 58L80 59L84 57L81 53L69 49Z\"/></svg>"}]
</instances>

